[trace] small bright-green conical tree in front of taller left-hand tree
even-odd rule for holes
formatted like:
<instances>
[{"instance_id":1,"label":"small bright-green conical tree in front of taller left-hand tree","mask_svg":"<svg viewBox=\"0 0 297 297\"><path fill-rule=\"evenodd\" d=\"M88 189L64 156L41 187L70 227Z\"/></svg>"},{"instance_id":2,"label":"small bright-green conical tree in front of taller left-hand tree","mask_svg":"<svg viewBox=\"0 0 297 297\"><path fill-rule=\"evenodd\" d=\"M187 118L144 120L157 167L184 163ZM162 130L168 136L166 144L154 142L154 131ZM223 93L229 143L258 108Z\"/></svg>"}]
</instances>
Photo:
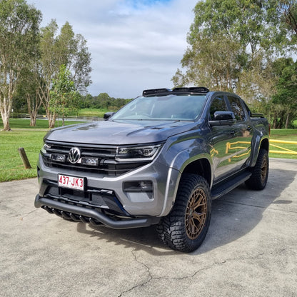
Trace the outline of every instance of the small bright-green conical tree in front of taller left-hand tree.
<instances>
[{"instance_id":1,"label":"small bright-green conical tree in front of taller left-hand tree","mask_svg":"<svg viewBox=\"0 0 297 297\"><path fill-rule=\"evenodd\" d=\"M80 98L74 81L71 80L70 71L66 69L65 65L61 65L58 77L53 80L50 96L51 111L62 115L62 125L64 126L64 118L69 114L69 111L77 111L79 109Z\"/></svg>"}]
</instances>

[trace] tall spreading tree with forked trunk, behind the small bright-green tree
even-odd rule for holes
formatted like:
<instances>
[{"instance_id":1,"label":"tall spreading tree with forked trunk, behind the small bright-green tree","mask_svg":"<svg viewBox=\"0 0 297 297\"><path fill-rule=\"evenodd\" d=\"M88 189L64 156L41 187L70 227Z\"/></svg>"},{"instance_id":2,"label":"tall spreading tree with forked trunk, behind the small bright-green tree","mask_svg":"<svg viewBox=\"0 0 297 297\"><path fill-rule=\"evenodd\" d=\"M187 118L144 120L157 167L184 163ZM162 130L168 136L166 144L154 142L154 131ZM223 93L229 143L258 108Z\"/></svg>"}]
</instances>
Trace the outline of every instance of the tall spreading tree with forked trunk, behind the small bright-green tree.
<instances>
[{"instance_id":1,"label":"tall spreading tree with forked trunk, behind the small bright-green tree","mask_svg":"<svg viewBox=\"0 0 297 297\"><path fill-rule=\"evenodd\" d=\"M54 127L57 116L56 109L51 109L50 91L53 80L59 75L60 66L66 66L77 90L84 92L91 84L91 54L86 48L86 40L81 35L75 35L68 22L62 26L59 35L57 30L56 21L41 29L39 92L49 119L49 128Z\"/></svg>"}]
</instances>

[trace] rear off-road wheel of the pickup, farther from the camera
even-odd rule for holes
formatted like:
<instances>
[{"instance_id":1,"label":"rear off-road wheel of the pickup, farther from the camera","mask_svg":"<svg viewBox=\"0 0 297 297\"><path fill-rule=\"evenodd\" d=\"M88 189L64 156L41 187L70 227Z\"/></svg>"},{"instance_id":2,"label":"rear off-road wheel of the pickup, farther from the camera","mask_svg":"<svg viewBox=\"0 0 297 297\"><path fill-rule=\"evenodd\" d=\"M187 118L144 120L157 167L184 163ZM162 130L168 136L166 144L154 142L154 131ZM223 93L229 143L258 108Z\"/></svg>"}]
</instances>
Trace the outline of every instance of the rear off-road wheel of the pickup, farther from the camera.
<instances>
[{"instance_id":1,"label":"rear off-road wheel of the pickup, farther from the camera","mask_svg":"<svg viewBox=\"0 0 297 297\"><path fill-rule=\"evenodd\" d=\"M252 190L261 191L266 187L269 171L268 151L260 148L256 165L252 168L252 175L246 181L246 186Z\"/></svg>"}]
</instances>

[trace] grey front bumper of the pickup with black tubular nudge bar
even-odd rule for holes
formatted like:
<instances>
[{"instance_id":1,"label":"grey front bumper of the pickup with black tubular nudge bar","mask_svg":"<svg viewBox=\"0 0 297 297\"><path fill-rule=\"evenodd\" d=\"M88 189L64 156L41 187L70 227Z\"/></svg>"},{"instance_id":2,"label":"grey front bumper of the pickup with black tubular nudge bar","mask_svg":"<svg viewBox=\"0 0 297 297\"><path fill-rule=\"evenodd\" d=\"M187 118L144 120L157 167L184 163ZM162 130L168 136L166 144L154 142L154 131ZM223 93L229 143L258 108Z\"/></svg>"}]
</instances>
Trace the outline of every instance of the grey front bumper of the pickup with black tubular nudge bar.
<instances>
[{"instance_id":1,"label":"grey front bumper of the pickup with black tubular nudge bar","mask_svg":"<svg viewBox=\"0 0 297 297\"><path fill-rule=\"evenodd\" d=\"M148 226L158 221L154 217L166 216L173 205L179 178L178 171L158 161L121 176L111 177L86 171L71 171L71 169L61 171L59 168L50 168L39 156L37 171L39 195L36 196L36 207L46 206L49 207L48 211L54 208L58 213L61 210L86 216L88 219L94 218L112 228L123 228L121 226L125 225L127 227L124 228L131 228L134 225ZM59 173L86 178L85 191L59 188ZM150 181L152 194L148 195L145 191L126 191L124 183L134 184L135 181ZM124 223L121 224L119 221Z\"/></svg>"}]
</instances>

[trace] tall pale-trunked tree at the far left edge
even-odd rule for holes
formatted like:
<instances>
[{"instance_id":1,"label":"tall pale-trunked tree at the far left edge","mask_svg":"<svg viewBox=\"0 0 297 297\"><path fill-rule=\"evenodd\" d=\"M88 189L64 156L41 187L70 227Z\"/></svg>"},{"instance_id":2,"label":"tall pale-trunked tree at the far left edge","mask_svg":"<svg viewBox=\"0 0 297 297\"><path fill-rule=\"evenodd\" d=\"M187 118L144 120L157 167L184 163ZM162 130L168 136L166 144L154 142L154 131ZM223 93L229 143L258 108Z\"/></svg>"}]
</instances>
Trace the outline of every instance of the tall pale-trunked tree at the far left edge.
<instances>
[{"instance_id":1,"label":"tall pale-trunked tree at the far left edge","mask_svg":"<svg viewBox=\"0 0 297 297\"><path fill-rule=\"evenodd\" d=\"M4 131L22 69L36 55L41 12L24 0L0 1L0 111Z\"/></svg>"}]
</instances>

